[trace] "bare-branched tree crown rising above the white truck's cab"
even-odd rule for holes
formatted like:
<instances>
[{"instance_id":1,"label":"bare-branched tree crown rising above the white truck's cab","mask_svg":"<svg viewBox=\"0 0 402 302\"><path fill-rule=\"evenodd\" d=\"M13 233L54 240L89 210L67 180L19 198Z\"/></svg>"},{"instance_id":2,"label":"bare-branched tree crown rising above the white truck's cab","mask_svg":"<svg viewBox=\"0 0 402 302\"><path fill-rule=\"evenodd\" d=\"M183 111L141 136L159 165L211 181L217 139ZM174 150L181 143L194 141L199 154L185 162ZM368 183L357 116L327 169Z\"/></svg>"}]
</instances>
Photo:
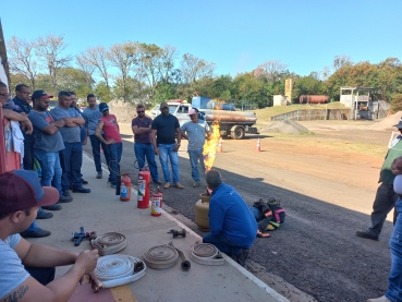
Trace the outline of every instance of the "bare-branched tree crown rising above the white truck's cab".
<instances>
[{"instance_id":1,"label":"bare-branched tree crown rising above the white truck's cab","mask_svg":"<svg viewBox=\"0 0 402 302\"><path fill-rule=\"evenodd\" d=\"M186 83L195 82L203 77L212 77L215 71L215 63L207 62L193 55L183 55L181 61L181 71Z\"/></svg>"}]
</instances>

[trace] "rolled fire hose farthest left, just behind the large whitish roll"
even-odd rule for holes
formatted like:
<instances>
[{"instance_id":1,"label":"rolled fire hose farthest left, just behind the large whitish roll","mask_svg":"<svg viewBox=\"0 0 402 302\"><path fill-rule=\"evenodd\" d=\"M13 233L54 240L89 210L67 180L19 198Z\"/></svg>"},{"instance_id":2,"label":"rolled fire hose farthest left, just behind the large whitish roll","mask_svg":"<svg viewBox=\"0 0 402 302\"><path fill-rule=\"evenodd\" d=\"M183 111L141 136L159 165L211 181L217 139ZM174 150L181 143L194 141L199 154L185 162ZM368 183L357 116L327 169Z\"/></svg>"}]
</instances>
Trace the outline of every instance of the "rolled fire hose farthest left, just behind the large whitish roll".
<instances>
[{"instance_id":1,"label":"rolled fire hose farthest left, just behind the large whitish roll","mask_svg":"<svg viewBox=\"0 0 402 302\"><path fill-rule=\"evenodd\" d=\"M127 241L123 234L110 232L90 240L90 245L93 249L97 249L99 251L100 256L105 256L123 250L127 246Z\"/></svg>"}]
</instances>

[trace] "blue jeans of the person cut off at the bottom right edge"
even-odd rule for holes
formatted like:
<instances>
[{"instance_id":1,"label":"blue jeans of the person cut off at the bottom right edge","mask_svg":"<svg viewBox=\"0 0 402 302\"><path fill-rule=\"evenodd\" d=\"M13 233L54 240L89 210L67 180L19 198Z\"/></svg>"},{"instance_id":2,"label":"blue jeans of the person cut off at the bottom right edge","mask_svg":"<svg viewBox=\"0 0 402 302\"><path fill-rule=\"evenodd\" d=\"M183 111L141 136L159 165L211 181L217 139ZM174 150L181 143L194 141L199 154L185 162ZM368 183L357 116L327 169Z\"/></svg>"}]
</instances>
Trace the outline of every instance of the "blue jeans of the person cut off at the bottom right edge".
<instances>
[{"instance_id":1,"label":"blue jeans of the person cut off at the bottom right edge","mask_svg":"<svg viewBox=\"0 0 402 302\"><path fill-rule=\"evenodd\" d=\"M402 207L399 198L397 207ZM401 212L401 210L399 210ZM386 297L393 302L402 301L402 216L398 216L389 241L391 252L391 271L388 277L388 290Z\"/></svg>"}]
</instances>

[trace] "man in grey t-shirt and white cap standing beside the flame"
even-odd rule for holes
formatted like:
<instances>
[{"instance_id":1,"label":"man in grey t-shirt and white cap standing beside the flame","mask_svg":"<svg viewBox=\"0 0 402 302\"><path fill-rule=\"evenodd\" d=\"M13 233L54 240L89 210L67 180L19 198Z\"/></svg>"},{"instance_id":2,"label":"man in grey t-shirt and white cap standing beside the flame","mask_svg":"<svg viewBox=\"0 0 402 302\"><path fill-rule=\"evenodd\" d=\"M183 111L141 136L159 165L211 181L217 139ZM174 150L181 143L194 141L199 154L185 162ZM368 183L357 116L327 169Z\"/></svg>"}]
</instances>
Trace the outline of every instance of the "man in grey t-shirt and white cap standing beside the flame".
<instances>
[{"instance_id":1,"label":"man in grey t-shirt and white cap standing beside the flame","mask_svg":"<svg viewBox=\"0 0 402 302\"><path fill-rule=\"evenodd\" d=\"M194 180L193 188L196 188L200 183L198 161L203 170L203 176L205 174L203 148L205 134L209 133L209 125L205 121L199 122L198 112L195 109L190 109L188 116L191 121L184 123L180 130L182 137L188 140L187 152L192 166L192 178Z\"/></svg>"}]
</instances>

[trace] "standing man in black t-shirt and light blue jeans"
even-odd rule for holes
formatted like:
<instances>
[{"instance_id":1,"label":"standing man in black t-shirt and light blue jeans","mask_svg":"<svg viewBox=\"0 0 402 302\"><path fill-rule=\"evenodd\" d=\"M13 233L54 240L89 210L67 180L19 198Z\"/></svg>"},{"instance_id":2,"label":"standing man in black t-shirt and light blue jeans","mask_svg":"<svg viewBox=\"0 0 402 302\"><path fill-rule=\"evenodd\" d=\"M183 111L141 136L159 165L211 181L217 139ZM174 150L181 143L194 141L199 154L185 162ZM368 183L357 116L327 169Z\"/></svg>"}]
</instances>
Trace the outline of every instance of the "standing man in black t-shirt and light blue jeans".
<instances>
[{"instance_id":1,"label":"standing man in black t-shirt and light blue jeans","mask_svg":"<svg viewBox=\"0 0 402 302\"><path fill-rule=\"evenodd\" d=\"M155 155L159 155L160 165L162 166L165 189L170 188L170 171L168 166L168 157L172 166L173 186L183 189L179 182L179 154L180 142L182 140L180 124L176 117L170 114L168 102L160 104L159 110L161 114L155 118L151 124L151 142ZM178 140L178 142L175 142Z\"/></svg>"}]
</instances>

